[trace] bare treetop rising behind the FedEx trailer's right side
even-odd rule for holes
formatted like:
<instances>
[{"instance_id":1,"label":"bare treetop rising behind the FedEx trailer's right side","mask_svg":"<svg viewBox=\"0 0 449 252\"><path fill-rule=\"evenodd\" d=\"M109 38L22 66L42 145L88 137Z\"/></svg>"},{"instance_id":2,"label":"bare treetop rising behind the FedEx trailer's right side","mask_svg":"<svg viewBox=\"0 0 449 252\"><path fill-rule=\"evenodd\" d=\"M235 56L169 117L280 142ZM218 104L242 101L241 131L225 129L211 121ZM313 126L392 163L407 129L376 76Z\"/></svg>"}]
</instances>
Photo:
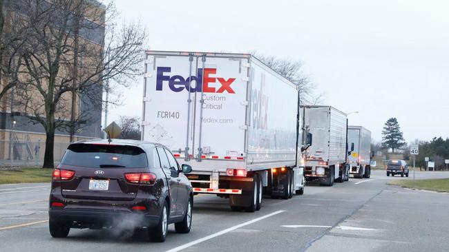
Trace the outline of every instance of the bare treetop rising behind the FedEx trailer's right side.
<instances>
[{"instance_id":1,"label":"bare treetop rising behind the FedEx trailer's right side","mask_svg":"<svg viewBox=\"0 0 449 252\"><path fill-rule=\"evenodd\" d=\"M324 101L324 94L315 94L316 84L312 83L310 78L304 74L303 63L301 61L278 59L275 56L263 56L257 52L253 54L265 63L265 65L287 78L287 80L298 85L301 103L316 105Z\"/></svg>"}]
</instances>

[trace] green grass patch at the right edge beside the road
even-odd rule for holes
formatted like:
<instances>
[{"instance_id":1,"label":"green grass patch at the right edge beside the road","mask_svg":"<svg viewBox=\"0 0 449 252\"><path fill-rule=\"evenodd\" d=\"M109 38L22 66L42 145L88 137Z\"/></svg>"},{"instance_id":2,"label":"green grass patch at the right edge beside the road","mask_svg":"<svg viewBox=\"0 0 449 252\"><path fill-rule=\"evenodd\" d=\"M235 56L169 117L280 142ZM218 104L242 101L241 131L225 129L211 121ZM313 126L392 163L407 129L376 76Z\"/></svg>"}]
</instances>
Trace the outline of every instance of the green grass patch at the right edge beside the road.
<instances>
[{"instance_id":1,"label":"green grass patch at the right edge beside the road","mask_svg":"<svg viewBox=\"0 0 449 252\"><path fill-rule=\"evenodd\" d=\"M428 180L391 180L388 185L422 189L439 192L449 192L449 178L434 178Z\"/></svg>"}]
</instances>

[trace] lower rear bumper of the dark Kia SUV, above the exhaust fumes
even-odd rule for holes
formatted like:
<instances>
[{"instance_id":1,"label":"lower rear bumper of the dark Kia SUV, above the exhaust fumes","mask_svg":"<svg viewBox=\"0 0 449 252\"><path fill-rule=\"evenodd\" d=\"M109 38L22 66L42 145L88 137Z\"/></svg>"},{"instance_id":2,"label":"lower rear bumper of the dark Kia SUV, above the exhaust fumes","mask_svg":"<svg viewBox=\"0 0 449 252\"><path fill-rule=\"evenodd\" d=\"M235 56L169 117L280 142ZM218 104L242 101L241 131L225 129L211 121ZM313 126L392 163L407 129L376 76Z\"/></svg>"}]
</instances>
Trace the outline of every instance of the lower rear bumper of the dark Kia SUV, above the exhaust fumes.
<instances>
[{"instance_id":1,"label":"lower rear bumper of the dark Kia SUV, above the exhaust fumes","mask_svg":"<svg viewBox=\"0 0 449 252\"><path fill-rule=\"evenodd\" d=\"M155 227L160 221L160 216L149 216L131 211L97 209L50 209L48 216L50 222L61 222L79 229L101 229L119 225L129 228Z\"/></svg>"}]
</instances>

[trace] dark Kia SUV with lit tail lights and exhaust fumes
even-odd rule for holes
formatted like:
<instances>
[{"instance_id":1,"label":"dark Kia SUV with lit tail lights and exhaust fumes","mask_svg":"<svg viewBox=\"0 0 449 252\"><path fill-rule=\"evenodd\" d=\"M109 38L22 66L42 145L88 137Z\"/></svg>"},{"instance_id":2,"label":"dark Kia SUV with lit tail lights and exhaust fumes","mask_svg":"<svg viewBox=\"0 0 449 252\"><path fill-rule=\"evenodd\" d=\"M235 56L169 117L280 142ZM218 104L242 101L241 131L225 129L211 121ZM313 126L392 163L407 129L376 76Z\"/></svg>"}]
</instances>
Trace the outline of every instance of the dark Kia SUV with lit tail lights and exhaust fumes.
<instances>
[{"instance_id":1,"label":"dark Kia SUV with lit tail lights and exhaust fumes","mask_svg":"<svg viewBox=\"0 0 449 252\"><path fill-rule=\"evenodd\" d=\"M149 238L164 242L168 225L177 233L191 229L193 191L163 145L136 140L90 140L68 146L53 171L49 228L65 238L70 228L149 229Z\"/></svg>"}]
</instances>

